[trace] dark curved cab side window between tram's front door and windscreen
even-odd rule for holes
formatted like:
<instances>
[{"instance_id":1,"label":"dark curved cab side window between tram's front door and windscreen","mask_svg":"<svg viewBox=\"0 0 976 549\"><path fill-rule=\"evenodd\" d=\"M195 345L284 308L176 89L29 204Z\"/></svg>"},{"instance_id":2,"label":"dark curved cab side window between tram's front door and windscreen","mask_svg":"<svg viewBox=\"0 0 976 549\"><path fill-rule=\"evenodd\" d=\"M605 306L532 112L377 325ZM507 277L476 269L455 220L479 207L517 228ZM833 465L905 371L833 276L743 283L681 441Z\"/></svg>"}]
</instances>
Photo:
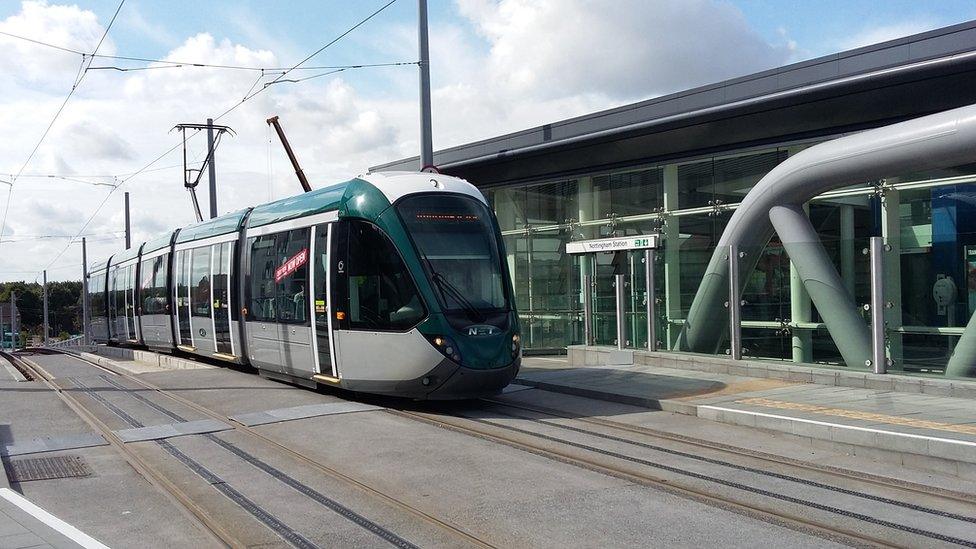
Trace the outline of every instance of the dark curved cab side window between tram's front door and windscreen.
<instances>
[{"instance_id":1,"label":"dark curved cab side window between tram's front door and windscreen","mask_svg":"<svg viewBox=\"0 0 976 549\"><path fill-rule=\"evenodd\" d=\"M349 322L352 328L403 330L426 314L417 287L390 239L375 225L349 226Z\"/></svg>"}]
</instances>

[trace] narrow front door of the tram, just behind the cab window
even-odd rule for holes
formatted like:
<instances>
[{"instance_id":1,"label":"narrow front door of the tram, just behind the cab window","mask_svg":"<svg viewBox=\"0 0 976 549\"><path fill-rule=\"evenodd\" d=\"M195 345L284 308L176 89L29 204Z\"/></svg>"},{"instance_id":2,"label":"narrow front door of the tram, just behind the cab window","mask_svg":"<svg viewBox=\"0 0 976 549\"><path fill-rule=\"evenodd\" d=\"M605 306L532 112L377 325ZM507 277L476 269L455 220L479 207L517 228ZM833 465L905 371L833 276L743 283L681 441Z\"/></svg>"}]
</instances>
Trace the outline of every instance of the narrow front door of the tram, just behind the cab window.
<instances>
[{"instance_id":1,"label":"narrow front door of the tram, just behind the cab window","mask_svg":"<svg viewBox=\"0 0 976 549\"><path fill-rule=\"evenodd\" d=\"M314 261L314 285L312 311L315 325L315 364L320 374L338 377L335 360L332 356L332 243L336 236L333 234L335 223L322 223L315 227L315 238L312 243L312 258Z\"/></svg>"}]
</instances>

